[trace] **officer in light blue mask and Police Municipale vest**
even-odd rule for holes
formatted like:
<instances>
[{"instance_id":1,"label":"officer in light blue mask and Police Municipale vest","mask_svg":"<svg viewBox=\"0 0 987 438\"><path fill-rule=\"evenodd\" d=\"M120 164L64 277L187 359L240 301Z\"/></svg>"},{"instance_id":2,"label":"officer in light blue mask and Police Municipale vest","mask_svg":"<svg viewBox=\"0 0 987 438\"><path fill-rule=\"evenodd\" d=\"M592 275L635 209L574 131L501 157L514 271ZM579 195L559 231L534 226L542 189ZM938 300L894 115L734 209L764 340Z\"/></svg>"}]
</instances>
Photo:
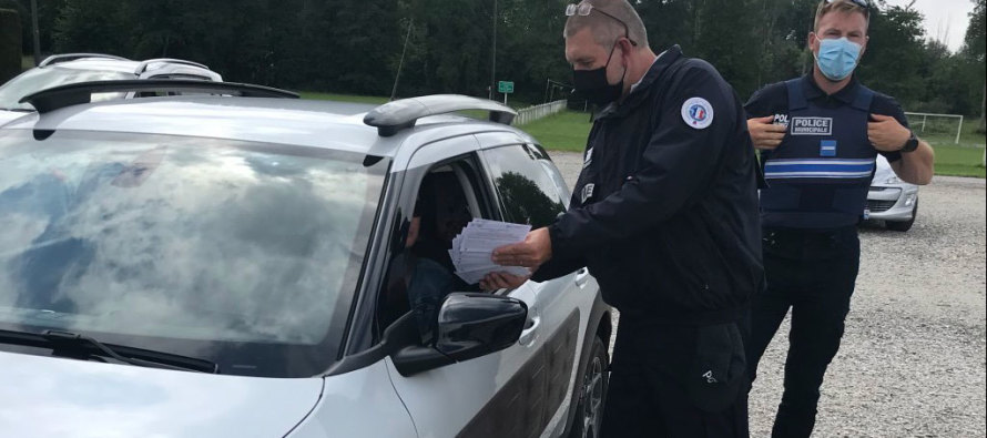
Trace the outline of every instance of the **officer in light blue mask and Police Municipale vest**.
<instances>
[{"instance_id":1,"label":"officer in light blue mask and Police Municipale vest","mask_svg":"<svg viewBox=\"0 0 987 438\"><path fill-rule=\"evenodd\" d=\"M761 191L766 291L755 295L751 378L792 309L784 395L774 437L807 437L820 386L840 347L859 267L856 224L865 212L875 157L913 184L933 175L933 151L908 130L894 99L853 71L867 47L867 0L824 0L804 78L769 85L746 104L767 187Z\"/></svg>"}]
</instances>

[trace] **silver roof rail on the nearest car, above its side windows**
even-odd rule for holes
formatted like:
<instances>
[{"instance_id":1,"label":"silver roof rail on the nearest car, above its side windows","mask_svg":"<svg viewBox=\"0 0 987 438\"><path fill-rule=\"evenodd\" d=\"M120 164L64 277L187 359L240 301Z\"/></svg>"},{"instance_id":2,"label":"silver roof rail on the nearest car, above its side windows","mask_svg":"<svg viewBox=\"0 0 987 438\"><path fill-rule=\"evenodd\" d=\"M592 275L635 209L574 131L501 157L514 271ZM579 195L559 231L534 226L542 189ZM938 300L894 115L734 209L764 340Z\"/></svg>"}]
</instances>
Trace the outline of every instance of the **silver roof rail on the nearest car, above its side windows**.
<instances>
[{"instance_id":1,"label":"silver roof rail on the nearest car, above its side windows","mask_svg":"<svg viewBox=\"0 0 987 438\"><path fill-rule=\"evenodd\" d=\"M435 94L387 102L364 116L364 123L377 128L380 136L391 136L415 126L418 119L457 111L480 110L490 112L490 121L510 124L518 112L509 106L486 99L459 94Z\"/></svg>"}]
</instances>

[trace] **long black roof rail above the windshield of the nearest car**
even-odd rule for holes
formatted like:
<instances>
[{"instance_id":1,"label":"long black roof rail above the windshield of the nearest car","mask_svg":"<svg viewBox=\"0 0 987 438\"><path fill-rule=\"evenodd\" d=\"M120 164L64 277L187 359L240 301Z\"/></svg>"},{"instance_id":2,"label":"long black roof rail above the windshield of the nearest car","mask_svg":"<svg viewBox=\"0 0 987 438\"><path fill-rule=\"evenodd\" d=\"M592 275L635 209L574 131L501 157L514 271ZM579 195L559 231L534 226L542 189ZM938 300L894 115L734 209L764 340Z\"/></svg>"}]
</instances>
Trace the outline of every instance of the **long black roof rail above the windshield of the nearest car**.
<instances>
[{"instance_id":1,"label":"long black roof rail above the windshield of the nearest car","mask_svg":"<svg viewBox=\"0 0 987 438\"><path fill-rule=\"evenodd\" d=\"M79 82L54 86L28 94L21 98L20 103L30 103L39 113L43 114L67 106L90 103L92 101L92 94L94 93L130 93L142 91L161 93L230 94L240 98L298 99L298 94L291 91L246 83L212 82L195 79L128 79L121 81Z\"/></svg>"}]
</instances>

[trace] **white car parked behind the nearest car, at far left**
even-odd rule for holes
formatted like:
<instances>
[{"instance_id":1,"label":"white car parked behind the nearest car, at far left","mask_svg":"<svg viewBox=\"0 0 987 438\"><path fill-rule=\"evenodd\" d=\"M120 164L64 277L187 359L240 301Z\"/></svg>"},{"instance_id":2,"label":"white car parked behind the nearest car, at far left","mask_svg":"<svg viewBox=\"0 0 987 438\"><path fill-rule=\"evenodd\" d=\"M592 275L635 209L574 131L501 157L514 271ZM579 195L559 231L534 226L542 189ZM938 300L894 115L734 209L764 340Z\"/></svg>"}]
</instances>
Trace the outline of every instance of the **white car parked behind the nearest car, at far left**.
<instances>
[{"instance_id":1,"label":"white car parked behind the nearest car, at far left","mask_svg":"<svg viewBox=\"0 0 987 438\"><path fill-rule=\"evenodd\" d=\"M223 77L197 62L177 59L151 59L132 61L101 53L54 54L0 85L0 124L33 112L21 98L59 85L128 79L196 79L222 81ZM133 98L130 93L105 93L94 100Z\"/></svg>"}]
</instances>

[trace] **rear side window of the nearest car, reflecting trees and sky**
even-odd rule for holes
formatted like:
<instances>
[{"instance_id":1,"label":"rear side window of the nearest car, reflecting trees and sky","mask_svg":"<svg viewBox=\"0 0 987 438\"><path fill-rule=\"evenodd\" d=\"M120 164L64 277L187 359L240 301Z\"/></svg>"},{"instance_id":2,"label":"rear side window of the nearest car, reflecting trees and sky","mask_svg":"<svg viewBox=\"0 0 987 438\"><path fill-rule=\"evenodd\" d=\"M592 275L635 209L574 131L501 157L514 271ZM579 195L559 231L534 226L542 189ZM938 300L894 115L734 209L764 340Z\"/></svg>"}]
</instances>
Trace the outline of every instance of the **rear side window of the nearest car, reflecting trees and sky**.
<instances>
[{"instance_id":1,"label":"rear side window of the nearest car, reflecting trees and sky","mask_svg":"<svg viewBox=\"0 0 987 438\"><path fill-rule=\"evenodd\" d=\"M506 220L532 227L551 225L566 211L564 194L546 172L547 156L526 144L484 151Z\"/></svg>"}]
</instances>

